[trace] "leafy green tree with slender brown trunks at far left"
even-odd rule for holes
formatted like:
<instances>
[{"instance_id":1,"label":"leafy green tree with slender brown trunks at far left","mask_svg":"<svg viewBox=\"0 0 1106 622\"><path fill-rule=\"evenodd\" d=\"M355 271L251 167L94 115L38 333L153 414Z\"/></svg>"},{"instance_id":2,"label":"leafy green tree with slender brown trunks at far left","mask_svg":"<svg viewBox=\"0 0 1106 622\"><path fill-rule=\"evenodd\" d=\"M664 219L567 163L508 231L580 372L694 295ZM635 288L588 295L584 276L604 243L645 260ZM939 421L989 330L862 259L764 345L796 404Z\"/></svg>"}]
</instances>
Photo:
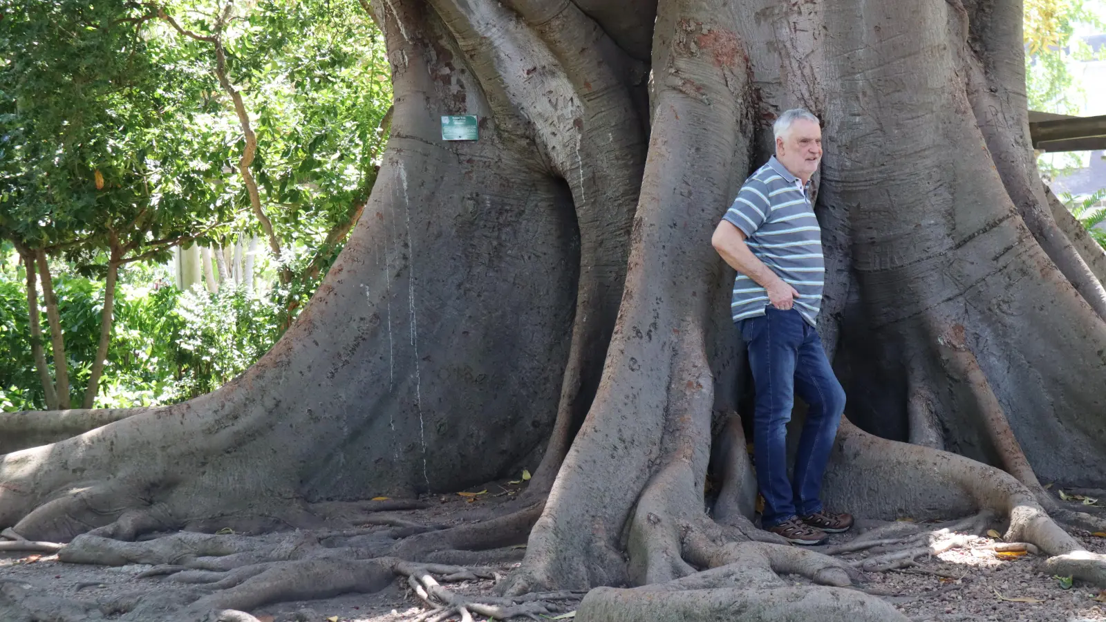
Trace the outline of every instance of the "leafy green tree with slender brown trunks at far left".
<instances>
[{"instance_id":1,"label":"leafy green tree with slender brown trunks at far left","mask_svg":"<svg viewBox=\"0 0 1106 622\"><path fill-rule=\"evenodd\" d=\"M119 267L164 260L228 212L191 166L210 156L213 141L197 135L194 111L179 106L201 100L205 85L174 71L181 59L143 35L145 21L134 8L59 1L28 9L4 20L0 227L35 259L56 374L56 388L45 393L56 393L60 407L69 407L72 390L48 256L106 280L87 387L76 393L88 408L107 353ZM28 282L33 314L34 282Z\"/></svg>"}]
</instances>

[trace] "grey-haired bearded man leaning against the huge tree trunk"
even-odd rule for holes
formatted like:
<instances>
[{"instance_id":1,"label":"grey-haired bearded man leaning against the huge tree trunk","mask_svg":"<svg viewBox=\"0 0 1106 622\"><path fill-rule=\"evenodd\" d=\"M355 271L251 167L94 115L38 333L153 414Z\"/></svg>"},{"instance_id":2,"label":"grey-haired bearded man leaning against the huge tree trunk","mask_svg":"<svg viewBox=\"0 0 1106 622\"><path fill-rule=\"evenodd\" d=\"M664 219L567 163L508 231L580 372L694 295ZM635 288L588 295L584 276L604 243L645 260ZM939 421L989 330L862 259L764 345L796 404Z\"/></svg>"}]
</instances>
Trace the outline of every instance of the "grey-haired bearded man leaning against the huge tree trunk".
<instances>
[{"instance_id":1,"label":"grey-haired bearded man leaning against the huge tree trunk","mask_svg":"<svg viewBox=\"0 0 1106 622\"><path fill-rule=\"evenodd\" d=\"M818 545L853 517L823 509L822 475L845 410L845 392L822 349L822 230L808 197L822 159L818 120L790 110L776 120L775 156L745 180L711 242L734 270L733 322L749 351L757 406L753 453L762 525L796 545ZM786 435L793 393L808 406L793 483Z\"/></svg>"}]
</instances>

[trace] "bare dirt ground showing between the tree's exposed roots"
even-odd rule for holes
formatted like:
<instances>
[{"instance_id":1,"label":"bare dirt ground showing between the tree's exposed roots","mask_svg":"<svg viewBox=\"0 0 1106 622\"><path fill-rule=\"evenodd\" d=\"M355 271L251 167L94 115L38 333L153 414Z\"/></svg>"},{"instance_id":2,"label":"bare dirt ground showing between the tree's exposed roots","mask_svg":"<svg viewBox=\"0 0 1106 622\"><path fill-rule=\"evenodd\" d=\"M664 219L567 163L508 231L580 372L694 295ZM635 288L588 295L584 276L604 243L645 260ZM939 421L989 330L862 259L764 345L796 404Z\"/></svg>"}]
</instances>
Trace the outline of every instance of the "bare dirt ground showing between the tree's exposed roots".
<instances>
[{"instance_id":1,"label":"bare dirt ground showing between the tree's exposed roots","mask_svg":"<svg viewBox=\"0 0 1106 622\"><path fill-rule=\"evenodd\" d=\"M427 523L468 522L486 516L486 510L495 506L512 505L520 486L502 481L490 484L488 489L488 493L477 496L437 495L427 499L434 502L429 508L389 514ZM479 491L472 489L469 493ZM835 536L831 543L847 542L879 525L886 523L859 521L855 532ZM1073 531L1073 535L1088 550L1106 553L1106 538L1079 531ZM1079 581L1064 589L1057 578L1039 568L1043 557L1025 554L1002 559L982 548L993 541L983 537L972 548L953 549L924 559L914 568L869 573L868 582L858 588L879 594L918 622L1106 621L1106 591ZM517 567L518 563L501 564L497 571L505 576ZM165 578L136 578L148 568L80 566L61 563L56 556L0 553L0 581L15 581L32 585L42 593L79 600L103 602L154 591L161 594L175 591L184 598L202 590ZM796 584L804 582L794 577L785 579ZM482 580L453 583L450 588L474 595L491 593L493 585L494 580ZM567 603L566 611L572 610L573 604ZM397 580L374 594L284 602L251 613L262 621L273 622L334 622L335 619L341 622L401 622L413 620L425 611L406 582Z\"/></svg>"}]
</instances>

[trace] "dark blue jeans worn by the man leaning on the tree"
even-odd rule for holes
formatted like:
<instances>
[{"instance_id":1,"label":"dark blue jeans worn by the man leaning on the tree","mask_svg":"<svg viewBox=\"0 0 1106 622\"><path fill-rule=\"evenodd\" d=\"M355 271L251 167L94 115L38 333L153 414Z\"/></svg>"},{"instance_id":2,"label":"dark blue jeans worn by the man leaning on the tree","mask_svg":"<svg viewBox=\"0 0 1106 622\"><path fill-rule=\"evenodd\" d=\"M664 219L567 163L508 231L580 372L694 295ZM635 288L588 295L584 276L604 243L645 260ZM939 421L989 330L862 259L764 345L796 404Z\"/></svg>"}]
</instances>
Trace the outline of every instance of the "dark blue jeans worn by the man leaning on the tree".
<instances>
[{"instance_id":1,"label":"dark blue jeans worn by the man leaning on the tree","mask_svg":"<svg viewBox=\"0 0 1106 622\"><path fill-rule=\"evenodd\" d=\"M738 322L749 351L757 406L753 456L764 496L765 529L822 509L818 495L842 413L845 391L837 382L817 329L794 309L768 305L764 315ZM797 393L806 403L806 423L795 456L794 485L787 480L787 422Z\"/></svg>"}]
</instances>

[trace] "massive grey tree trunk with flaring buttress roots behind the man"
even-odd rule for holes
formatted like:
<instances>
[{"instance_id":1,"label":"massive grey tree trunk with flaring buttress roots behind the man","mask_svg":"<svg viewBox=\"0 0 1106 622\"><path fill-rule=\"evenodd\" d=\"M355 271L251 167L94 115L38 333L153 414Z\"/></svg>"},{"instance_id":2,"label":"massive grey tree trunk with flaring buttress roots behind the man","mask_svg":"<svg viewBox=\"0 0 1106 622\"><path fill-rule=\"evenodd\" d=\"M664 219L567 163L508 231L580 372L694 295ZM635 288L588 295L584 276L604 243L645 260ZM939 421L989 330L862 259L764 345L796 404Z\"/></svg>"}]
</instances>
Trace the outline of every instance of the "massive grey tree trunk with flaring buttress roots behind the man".
<instances>
[{"instance_id":1,"label":"massive grey tree trunk with flaring buttress roots behind the man","mask_svg":"<svg viewBox=\"0 0 1106 622\"><path fill-rule=\"evenodd\" d=\"M541 459L517 514L387 552L492 549L533 525L508 595L638 585L592 591L577 619L774 620L785 604L901 620L859 592L787 587L778 572L851 578L751 523L733 274L709 238L771 122L803 105L824 120L820 328L852 421L828 504L1001 516L1051 570L1106 581L1046 510L1099 519L1040 484L1106 475L1106 297L1033 168L1020 2L373 8L392 137L309 307L210 395L4 457L0 526L93 530L74 560L155 559L102 537L311 526L326 501L457 490ZM442 142L447 114L479 115L480 138ZM301 579L320 561L295 562ZM251 584L219 605L257 604Z\"/></svg>"}]
</instances>

